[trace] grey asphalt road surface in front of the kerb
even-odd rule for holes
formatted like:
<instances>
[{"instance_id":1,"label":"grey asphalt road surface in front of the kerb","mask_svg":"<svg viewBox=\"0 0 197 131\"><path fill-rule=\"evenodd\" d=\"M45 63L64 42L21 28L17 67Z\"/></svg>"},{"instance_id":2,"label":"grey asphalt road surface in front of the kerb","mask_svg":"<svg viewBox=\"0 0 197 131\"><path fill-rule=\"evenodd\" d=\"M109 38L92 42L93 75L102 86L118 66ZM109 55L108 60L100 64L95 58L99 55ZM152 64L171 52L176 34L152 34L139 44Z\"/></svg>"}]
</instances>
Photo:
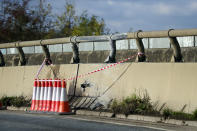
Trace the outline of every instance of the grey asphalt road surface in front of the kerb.
<instances>
[{"instance_id":1,"label":"grey asphalt road surface in front of the kerb","mask_svg":"<svg viewBox=\"0 0 197 131\"><path fill-rule=\"evenodd\" d=\"M167 131L180 128L175 126L160 128L161 126L158 125L134 123L76 115L58 116L0 111L0 131Z\"/></svg>"}]
</instances>

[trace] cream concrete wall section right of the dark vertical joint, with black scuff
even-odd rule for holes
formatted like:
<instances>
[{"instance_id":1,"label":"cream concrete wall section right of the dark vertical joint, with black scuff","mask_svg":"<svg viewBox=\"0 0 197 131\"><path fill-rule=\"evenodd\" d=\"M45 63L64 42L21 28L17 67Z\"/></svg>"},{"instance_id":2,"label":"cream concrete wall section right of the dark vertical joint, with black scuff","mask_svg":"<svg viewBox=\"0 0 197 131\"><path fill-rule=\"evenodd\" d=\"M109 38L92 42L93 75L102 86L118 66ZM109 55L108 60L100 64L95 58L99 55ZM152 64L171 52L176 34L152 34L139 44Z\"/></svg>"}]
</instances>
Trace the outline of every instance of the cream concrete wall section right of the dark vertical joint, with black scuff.
<instances>
[{"instance_id":1,"label":"cream concrete wall section right of the dark vertical joint, with black scuff","mask_svg":"<svg viewBox=\"0 0 197 131\"><path fill-rule=\"evenodd\" d=\"M103 65L80 65L79 74L92 71ZM145 90L153 102L166 103L181 110L186 104L187 112L197 108L197 64L192 63L127 63L89 75L78 80L78 91L84 96L101 96L101 100L122 99ZM80 88L85 81L90 83L85 91ZM106 91L107 90L107 91ZM105 94L103 94L106 91Z\"/></svg>"}]
</instances>

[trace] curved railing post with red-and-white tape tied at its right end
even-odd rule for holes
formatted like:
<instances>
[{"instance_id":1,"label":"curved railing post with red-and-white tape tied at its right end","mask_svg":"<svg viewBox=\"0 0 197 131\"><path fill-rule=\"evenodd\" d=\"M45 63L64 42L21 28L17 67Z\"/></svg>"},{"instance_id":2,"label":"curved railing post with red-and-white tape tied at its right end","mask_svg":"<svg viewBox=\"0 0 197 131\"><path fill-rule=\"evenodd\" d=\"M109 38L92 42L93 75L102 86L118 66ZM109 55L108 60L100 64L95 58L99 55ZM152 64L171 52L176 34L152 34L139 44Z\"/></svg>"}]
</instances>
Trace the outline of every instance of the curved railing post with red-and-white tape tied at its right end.
<instances>
[{"instance_id":1,"label":"curved railing post with red-and-white tape tied at its right end","mask_svg":"<svg viewBox=\"0 0 197 131\"><path fill-rule=\"evenodd\" d=\"M137 44L137 48L138 48L138 55L136 58L137 62L145 62L146 61L146 56L145 56L145 49L144 49L144 44L142 41L142 38L138 37L138 33L142 32L142 30L139 30L136 32L136 44Z\"/></svg>"}]
</instances>

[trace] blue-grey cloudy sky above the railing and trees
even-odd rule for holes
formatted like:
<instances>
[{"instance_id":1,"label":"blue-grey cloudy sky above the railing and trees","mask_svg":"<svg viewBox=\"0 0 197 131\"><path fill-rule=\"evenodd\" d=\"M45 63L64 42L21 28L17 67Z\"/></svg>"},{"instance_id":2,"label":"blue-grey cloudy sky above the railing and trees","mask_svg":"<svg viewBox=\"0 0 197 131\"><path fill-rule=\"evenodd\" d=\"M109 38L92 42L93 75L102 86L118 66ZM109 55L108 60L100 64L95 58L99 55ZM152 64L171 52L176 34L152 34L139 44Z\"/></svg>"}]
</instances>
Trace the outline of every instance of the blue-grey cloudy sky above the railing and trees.
<instances>
[{"instance_id":1,"label":"blue-grey cloudy sky above the railing and trees","mask_svg":"<svg viewBox=\"0 0 197 131\"><path fill-rule=\"evenodd\" d=\"M48 0L54 13L65 0ZM105 20L111 32L197 28L197 0L70 0L77 13L87 10Z\"/></svg>"}]
</instances>

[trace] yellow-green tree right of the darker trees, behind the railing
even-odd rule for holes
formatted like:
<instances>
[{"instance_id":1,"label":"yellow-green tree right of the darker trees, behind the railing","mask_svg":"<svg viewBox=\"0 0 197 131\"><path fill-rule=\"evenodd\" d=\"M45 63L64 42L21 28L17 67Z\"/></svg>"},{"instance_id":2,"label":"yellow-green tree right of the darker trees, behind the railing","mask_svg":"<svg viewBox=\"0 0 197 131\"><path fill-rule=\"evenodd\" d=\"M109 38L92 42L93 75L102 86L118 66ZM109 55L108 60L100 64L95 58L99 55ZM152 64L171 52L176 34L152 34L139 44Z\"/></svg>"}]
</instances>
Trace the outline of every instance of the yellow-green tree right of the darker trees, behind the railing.
<instances>
[{"instance_id":1,"label":"yellow-green tree right of the darker trees, behind the railing","mask_svg":"<svg viewBox=\"0 0 197 131\"><path fill-rule=\"evenodd\" d=\"M60 36L91 36L108 34L109 29L106 28L103 19L98 16L89 16L87 11L83 11L81 15L76 15L75 7L70 2L66 3L65 11L58 16L57 25L59 27Z\"/></svg>"}]
</instances>

